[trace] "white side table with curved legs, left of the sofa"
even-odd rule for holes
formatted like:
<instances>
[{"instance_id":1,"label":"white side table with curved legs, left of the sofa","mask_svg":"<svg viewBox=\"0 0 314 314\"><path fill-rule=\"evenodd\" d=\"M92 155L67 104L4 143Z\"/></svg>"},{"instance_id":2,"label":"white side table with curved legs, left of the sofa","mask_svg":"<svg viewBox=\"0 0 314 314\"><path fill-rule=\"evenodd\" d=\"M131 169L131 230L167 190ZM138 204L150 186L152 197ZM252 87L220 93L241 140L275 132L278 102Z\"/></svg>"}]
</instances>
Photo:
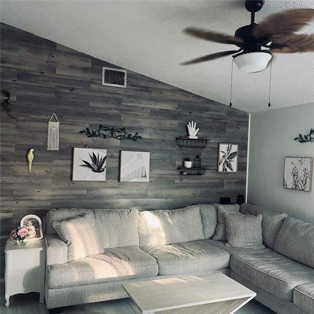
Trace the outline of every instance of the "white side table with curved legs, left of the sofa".
<instances>
[{"instance_id":1,"label":"white side table with curved legs, left of the sofa","mask_svg":"<svg viewBox=\"0 0 314 314\"><path fill-rule=\"evenodd\" d=\"M5 245L5 306L10 296L17 293L39 292L39 303L44 303L45 289L45 238L18 246L8 239Z\"/></svg>"}]
</instances>

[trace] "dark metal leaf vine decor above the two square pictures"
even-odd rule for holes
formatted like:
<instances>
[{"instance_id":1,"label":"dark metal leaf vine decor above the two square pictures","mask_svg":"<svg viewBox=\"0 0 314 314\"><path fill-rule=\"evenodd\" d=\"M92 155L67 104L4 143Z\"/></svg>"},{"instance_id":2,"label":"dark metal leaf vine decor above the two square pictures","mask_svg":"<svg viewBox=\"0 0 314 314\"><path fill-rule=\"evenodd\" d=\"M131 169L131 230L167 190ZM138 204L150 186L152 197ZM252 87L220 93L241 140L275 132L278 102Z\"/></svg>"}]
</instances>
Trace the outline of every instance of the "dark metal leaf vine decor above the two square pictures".
<instances>
[{"instance_id":1,"label":"dark metal leaf vine decor above the two square pictures","mask_svg":"<svg viewBox=\"0 0 314 314\"><path fill-rule=\"evenodd\" d=\"M100 137L100 138L116 138L119 140L122 139L131 139L132 141L137 141L137 139L142 138L142 136L137 135L136 132L134 135L132 133L128 133L125 128L122 129L114 129L114 128L107 128L103 127L102 125L99 126L99 129L96 131L86 130L79 131L80 133L86 134L87 137Z\"/></svg>"}]
</instances>

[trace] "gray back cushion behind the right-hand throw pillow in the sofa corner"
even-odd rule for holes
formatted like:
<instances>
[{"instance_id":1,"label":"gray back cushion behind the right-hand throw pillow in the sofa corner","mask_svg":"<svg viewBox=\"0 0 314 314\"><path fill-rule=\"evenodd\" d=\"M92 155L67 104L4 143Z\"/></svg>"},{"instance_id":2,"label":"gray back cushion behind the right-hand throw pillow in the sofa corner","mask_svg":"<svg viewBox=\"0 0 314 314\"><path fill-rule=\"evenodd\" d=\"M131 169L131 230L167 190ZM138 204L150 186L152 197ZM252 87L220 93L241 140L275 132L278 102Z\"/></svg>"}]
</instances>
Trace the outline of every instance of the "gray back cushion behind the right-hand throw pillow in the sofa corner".
<instances>
[{"instance_id":1,"label":"gray back cushion behind the right-hand throw pillow in the sofa corner","mask_svg":"<svg viewBox=\"0 0 314 314\"><path fill-rule=\"evenodd\" d=\"M267 247L273 249L275 239L279 233L279 230L284 220L288 217L288 215L282 211L265 209L247 203L243 203L240 205L240 212L242 214L250 214L255 216L257 216L258 214L262 214L263 243Z\"/></svg>"}]
</instances>

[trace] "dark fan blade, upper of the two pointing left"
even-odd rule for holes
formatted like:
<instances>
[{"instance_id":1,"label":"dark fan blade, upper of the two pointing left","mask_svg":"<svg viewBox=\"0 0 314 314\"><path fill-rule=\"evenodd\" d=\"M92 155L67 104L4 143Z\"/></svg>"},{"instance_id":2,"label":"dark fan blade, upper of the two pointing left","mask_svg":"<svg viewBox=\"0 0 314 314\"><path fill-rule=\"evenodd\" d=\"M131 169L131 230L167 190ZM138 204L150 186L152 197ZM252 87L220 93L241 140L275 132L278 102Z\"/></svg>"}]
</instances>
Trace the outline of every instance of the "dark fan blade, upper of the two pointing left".
<instances>
[{"instance_id":1,"label":"dark fan blade, upper of the two pointing left","mask_svg":"<svg viewBox=\"0 0 314 314\"><path fill-rule=\"evenodd\" d=\"M216 43L234 44L234 45L243 43L243 39L241 38L234 37L231 35L226 35L223 33L217 33L215 31L208 31L201 28L187 27L183 29L183 31L194 37L214 41Z\"/></svg>"}]
</instances>

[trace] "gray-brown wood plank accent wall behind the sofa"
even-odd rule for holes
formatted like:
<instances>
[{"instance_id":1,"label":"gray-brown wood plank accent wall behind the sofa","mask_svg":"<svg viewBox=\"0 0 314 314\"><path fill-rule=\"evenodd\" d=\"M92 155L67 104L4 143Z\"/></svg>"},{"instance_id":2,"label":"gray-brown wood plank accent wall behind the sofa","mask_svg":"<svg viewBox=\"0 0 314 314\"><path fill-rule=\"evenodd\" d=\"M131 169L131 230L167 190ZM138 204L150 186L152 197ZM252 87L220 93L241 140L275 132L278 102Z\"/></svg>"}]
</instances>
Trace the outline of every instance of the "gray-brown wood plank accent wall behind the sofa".
<instances>
[{"instance_id":1,"label":"gray-brown wood plank accent wall behind the sofa","mask_svg":"<svg viewBox=\"0 0 314 314\"><path fill-rule=\"evenodd\" d=\"M11 93L11 114L17 118L1 108L1 211L13 213L12 219L1 220L2 234L24 215L43 217L51 208L176 209L219 203L220 197L235 203L245 193L247 113L132 71L127 88L103 86L103 66L119 68L1 24L1 89ZM60 149L47 151L53 112L60 121ZM211 139L207 149L177 146L191 120L200 138ZM79 134L100 124L125 127L143 139ZM237 173L217 173L218 143L239 144ZM105 182L72 181L74 147L107 149ZM30 148L35 157L28 172ZM150 152L149 183L119 183L121 150ZM196 155L209 173L180 175L183 158Z\"/></svg>"}]
</instances>

